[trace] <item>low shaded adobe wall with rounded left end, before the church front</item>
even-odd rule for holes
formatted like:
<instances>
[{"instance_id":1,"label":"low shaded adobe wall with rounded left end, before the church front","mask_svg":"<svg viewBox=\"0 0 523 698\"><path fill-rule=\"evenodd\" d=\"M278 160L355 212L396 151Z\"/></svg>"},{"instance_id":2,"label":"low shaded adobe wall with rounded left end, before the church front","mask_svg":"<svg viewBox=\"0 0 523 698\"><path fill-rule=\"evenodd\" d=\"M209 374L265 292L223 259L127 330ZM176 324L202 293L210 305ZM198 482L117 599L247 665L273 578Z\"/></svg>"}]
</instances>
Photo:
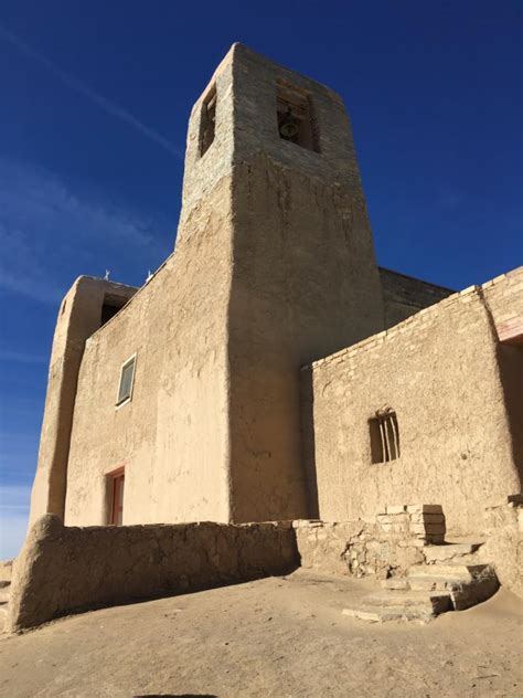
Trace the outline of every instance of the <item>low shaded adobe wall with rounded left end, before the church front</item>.
<instances>
[{"instance_id":1,"label":"low shaded adobe wall with rounded left end, before the church front","mask_svg":"<svg viewBox=\"0 0 523 698\"><path fill-rule=\"evenodd\" d=\"M6 630L71 612L284 574L291 522L64 527L46 515L17 559Z\"/></svg>"}]
</instances>

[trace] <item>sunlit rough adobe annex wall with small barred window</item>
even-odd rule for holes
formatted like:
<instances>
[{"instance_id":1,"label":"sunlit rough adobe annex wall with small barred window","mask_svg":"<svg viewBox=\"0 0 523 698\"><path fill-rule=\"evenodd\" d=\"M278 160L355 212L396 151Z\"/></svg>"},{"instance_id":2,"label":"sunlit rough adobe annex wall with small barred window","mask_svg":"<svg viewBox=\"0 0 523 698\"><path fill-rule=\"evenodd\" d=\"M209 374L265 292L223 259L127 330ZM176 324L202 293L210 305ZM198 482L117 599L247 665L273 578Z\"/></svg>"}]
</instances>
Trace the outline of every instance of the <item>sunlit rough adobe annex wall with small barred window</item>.
<instances>
[{"instance_id":1,"label":"sunlit rough adobe annex wall with small barred window","mask_svg":"<svg viewBox=\"0 0 523 698\"><path fill-rule=\"evenodd\" d=\"M519 284L505 303L521 307ZM373 516L387 501L436 501L449 533L467 535L482 530L489 503L520 490L481 289L314 362L302 371L302 393L310 509L323 520ZM369 420L384 405L397 414L401 457L373 464Z\"/></svg>"}]
</instances>

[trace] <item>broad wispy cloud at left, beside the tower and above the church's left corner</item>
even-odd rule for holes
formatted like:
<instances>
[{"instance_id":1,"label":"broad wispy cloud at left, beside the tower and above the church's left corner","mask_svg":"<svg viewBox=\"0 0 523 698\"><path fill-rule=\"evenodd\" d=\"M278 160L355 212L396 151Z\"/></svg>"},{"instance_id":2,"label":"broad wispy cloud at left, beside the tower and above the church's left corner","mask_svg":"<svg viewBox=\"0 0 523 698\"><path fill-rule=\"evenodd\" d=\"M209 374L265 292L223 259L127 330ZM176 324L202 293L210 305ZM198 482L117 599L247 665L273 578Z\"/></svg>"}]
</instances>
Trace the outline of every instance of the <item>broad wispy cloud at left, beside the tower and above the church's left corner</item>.
<instances>
[{"instance_id":1,"label":"broad wispy cloud at left, beside the tower and above the church's left corner","mask_svg":"<svg viewBox=\"0 0 523 698\"><path fill-rule=\"evenodd\" d=\"M56 305L78 273L103 274L110 258L145 250L151 258L157 245L150 221L0 157L0 288Z\"/></svg>"}]
</instances>

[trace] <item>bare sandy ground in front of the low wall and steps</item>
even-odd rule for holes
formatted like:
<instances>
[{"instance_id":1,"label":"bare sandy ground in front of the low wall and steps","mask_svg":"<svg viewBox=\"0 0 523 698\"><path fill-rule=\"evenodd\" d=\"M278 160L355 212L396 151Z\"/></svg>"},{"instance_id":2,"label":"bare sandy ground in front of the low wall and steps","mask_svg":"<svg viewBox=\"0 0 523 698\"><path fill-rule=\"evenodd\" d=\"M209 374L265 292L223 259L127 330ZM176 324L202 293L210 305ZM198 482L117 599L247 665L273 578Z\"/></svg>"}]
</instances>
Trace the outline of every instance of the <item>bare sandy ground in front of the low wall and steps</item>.
<instances>
[{"instance_id":1,"label":"bare sandy ground in front of the low wall and steps","mask_svg":"<svg viewBox=\"0 0 523 698\"><path fill-rule=\"evenodd\" d=\"M341 614L373 589L300 571L63 618L0 639L0 696L523 696L515 596L428 625Z\"/></svg>"}]
</instances>

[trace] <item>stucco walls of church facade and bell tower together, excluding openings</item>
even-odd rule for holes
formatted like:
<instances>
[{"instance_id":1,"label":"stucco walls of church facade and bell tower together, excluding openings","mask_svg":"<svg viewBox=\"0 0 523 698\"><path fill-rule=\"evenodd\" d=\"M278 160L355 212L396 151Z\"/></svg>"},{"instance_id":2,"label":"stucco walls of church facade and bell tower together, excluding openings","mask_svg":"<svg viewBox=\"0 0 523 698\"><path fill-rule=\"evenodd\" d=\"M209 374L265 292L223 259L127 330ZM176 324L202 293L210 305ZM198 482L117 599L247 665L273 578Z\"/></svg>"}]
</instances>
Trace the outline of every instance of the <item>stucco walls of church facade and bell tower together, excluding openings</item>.
<instances>
[{"instance_id":1,"label":"stucco walls of church facade and bell tower together, excluding openings","mask_svg":"<svg viewBox=\"0 0 523 698\"><path fill-rule=\"evenodd\" d=\"M279 137L281 82L312 99L320 154ZM107 476L119 467L124 524L306 516L300 366L382 328L340 97L233 46L191 114L175 254L87 341L66 524L108 521ZM115 409L134 355L132 400Z\"/></svg>"}]
</instances>

